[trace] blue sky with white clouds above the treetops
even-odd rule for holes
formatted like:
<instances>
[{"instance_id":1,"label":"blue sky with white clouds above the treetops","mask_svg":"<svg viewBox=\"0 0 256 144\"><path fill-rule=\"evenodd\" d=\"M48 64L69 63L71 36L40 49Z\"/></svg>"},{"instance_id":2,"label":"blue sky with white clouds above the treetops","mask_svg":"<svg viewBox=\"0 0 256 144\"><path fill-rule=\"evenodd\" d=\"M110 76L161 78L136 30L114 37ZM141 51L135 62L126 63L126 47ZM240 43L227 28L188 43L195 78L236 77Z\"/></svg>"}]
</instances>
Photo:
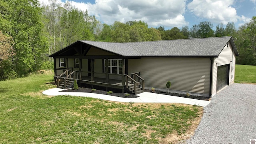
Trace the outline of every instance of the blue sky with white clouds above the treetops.
<instances>
[{"instance_id":1,"label":"blue sky with white clouds above the treetops","mask_svg":"<svg viewBox=\"0 0 256 144\"><path fill-rule=\"evenodd\" d=\"M48 0L40 0L48 2ZM64 0L57 0L64 3ZM69 0L72 5L88 10L102 23L143 20L149 27L191 28L199 22L214 24L234 22L236 28L256 16L256 0Z\"/></svg>"}]
</instances>

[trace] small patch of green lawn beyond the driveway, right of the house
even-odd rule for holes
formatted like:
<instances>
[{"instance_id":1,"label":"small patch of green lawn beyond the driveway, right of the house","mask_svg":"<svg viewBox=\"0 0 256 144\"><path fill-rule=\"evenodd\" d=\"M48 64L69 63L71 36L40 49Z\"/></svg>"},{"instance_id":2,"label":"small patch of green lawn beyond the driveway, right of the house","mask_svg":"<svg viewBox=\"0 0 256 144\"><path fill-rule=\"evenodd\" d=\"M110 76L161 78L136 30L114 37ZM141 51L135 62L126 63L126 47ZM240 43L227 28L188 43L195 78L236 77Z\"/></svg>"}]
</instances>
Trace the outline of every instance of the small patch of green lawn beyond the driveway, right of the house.
<instances>
[{"instance_id":1,"label":"small patch of green lawn beyond the driveway, right of the house","mask_svg":"<svg viewBox=\"0 0 256 144\"><path fill-rule=\"evenodd\" d=\"M236 83L256 83L256 66L236 64Z\"/></svg>"}]
</instances>

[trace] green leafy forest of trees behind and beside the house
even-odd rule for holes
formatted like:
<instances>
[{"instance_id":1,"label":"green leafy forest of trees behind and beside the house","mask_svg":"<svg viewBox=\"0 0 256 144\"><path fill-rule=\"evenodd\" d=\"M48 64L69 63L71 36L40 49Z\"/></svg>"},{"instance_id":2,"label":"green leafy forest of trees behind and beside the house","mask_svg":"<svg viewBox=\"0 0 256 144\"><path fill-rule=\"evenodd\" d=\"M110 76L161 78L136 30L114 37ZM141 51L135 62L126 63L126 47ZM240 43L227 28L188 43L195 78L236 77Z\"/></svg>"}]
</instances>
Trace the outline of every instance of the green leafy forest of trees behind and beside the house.
<instances>
[{"instance_id":1,"label":"green leafy forest of trees behind and beside the house","mask_svg":"<svg viewBox=\"0 0 256 144\"><path fill-rule=\"evenodd\" d=\"M256 65L256 16L236 28L234 22L200 22L191 28L149 28L144 21L104 24L68 1L0 0L0 80L53 69L48 56L77 40L140 42L233 36L240 56L236 64Z\"/></svg>"}]
</instances>

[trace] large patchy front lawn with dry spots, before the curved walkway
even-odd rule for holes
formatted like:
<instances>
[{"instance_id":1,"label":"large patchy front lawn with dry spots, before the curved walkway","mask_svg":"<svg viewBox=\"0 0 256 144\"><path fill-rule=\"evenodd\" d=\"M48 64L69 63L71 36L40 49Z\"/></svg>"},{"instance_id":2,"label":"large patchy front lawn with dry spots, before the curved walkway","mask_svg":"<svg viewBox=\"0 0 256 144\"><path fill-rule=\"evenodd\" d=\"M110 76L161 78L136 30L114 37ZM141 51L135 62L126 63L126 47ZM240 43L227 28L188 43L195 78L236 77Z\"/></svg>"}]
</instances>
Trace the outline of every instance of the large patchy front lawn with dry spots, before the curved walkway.
<instances>
[{"instance_id":1,"label":"large patchy front lawn with dry spots, before the curved walkway","mask_svg":"<svg viewBox=\"0 0 256 144\"><path fill-rule=\"evenodd\" d=\"M191 135L202 108L45 96L52 74L0 81L0 143L169 143Z\"/></svg>"}]
</instances>

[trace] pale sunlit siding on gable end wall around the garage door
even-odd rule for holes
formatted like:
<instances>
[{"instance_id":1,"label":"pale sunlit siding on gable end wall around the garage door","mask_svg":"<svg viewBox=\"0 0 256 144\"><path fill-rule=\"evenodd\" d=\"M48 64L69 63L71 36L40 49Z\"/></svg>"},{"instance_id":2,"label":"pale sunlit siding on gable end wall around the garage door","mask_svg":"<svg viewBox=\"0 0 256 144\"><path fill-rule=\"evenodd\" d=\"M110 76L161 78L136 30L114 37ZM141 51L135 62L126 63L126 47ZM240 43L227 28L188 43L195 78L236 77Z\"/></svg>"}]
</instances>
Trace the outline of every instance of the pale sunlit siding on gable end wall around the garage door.
<instances>
[{"instance_id":1,"label":"pale sunlit siding on gable end wall around the garage door","mask_svg":"<svg viewBox=\"0 0 256 144\"><path fill-rule=\"evenodd\" d=\"M233 59L232 59L233 57ZM233 48L231 47L230 42L223 48L220 52L218 58L214 58L213 64L213 80L212 80L212 94L216 94L216 84L217 84L217 68L218 66L222 66L225 64L230 64L229 70L229 84L234 83L234 76L235 76L235 65L236 65L236 57L233 52Z\"/></svg>"}]
</instances>

